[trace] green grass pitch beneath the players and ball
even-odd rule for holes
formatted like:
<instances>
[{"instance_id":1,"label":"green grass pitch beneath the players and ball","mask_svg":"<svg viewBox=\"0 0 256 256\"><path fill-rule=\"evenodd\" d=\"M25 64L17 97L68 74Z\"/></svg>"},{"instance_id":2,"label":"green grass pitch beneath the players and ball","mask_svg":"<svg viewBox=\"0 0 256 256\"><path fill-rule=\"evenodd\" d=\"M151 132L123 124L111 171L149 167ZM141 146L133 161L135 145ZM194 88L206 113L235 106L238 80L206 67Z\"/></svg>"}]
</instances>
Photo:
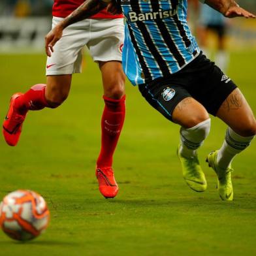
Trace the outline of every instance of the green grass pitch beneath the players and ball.
<instances>
[{"instance_id":1,"label":"green grass pitch beneath the players and ball","mask_svg":"<svg viewBox=\"0 0 256 256\"><path fill-rule=\"evenodd\" d=\"M254 111L255 59L256 52L233 52L229 69ZM100 195L95 161L101 76L89 57L86 61L60 108L29 112L18 146L7 146L0 136L0 197L32 189L51 212L48 230L26 244L0 232L0 255L255 255L256 143L233 163L234 201L221 201L216 176L204 162L225 134L225 125L212 118L199 151L208 190L196 193L185 184L176 157L178 126L128 82L127 116L114 158L120 193L110 200ZM12 93L45 81L45 57L2 55L0 65L3 120Z\"/></svg>"}]
</instances>

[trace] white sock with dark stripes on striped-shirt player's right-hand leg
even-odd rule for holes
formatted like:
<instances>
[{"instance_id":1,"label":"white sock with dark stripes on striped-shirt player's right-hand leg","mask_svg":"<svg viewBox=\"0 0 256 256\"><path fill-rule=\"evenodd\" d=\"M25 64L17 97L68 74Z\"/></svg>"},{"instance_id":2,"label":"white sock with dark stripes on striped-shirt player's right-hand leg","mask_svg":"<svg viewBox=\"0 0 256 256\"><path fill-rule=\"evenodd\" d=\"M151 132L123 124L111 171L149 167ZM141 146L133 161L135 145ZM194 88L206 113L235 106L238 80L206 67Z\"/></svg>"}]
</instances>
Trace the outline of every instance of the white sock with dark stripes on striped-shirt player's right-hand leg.
<instances>
[{"instance_id":1,"label":"white sock with dark stripes on striped-shirt player's right-hand leg","mask_svg":"<svg viewBox=\"0 0 256 256\"><path fill-rule=\"evenodd\" d=\"M217 165L226 170L231 165L234 156L245 150L253 138L254 136L240 136L229 127L225 140L217 153Z\"/></svg>"}]
</instances>

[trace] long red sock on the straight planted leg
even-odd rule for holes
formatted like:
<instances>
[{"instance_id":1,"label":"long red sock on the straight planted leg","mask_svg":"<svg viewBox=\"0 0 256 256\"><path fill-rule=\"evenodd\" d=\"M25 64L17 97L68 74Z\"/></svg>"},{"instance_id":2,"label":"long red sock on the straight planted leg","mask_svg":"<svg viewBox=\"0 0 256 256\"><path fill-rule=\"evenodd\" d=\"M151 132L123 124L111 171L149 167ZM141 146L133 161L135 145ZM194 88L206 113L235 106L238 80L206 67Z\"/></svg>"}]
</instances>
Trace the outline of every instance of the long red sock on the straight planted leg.
<instances>
[{"instance_id":1,"label":"long red sock on the straight planted leg","mask_svg":"<svg viewBox=\"0 0 256 256\"><path fill-rule=\"evenodd\" d=\"M101 118L101 153L97 167L112 167L113 154L125 120L125 95L121 99L103 96L105 107Z\"/></svg>"}]
</instances>

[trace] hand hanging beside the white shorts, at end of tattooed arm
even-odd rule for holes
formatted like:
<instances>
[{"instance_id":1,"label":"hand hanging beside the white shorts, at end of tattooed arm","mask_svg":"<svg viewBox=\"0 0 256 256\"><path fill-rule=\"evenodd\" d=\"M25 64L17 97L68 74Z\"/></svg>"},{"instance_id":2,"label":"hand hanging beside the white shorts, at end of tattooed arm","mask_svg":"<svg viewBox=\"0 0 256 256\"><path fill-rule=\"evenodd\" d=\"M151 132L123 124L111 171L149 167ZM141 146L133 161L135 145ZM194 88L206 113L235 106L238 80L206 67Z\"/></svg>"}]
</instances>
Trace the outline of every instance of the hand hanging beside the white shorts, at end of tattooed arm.
<instances>
[{"instance_id":1,"label":"hand hanging beside the white shorts, at end of tattooed arm","mask_svg":"<svg viewBox=\"0 0 256 256\"><path fill-rule=\"evenodd\" d=\"M63 28L61 25L56 25L45 37L45 52L46 55L51 57L52 52L54 52L54 45L61 39L63 33Z\"/></svg>"}]
</instances>

